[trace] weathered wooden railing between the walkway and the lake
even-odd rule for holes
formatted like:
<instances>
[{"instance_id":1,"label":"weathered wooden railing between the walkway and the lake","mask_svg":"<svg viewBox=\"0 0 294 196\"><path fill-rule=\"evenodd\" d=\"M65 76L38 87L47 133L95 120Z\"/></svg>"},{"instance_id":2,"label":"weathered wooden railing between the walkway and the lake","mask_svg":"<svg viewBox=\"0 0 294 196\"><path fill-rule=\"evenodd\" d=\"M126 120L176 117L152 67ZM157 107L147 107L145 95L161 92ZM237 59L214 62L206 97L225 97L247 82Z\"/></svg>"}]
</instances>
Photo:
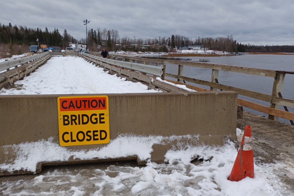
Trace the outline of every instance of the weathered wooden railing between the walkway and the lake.
<instances>
[{"instance_id":1,"label":"weathered wooden railing between the walkway and the lake","mask_svg":"<svg viewBox=\"0 0 294 196\"><path fill-rule=\"evenodd\" d=\"M97 55L97 54L96 54ZM140 61L141 64L152 64L154 66L158 66L159 64L172 64L178 66L178 74L165 73L165 77L171 77L177 79L177 81L167 80L169 82L173 82L175 84L186 85L190 89L194 89L197 91L206 91L207 89L203 89L200 87L196 87L193 85L188 85L183 83L183 81L188 81L191 83L205 85L210 87L210 90L217 91L220 90L230 90L236 91L238 94L255 98L258 100L266 101L270 103L270 106L264 106L261 104L257 104L251 101L238 99L238 104L244 107L251 108L256 111L263 112L269 115L269 119L278 120L278 117L290 120L291 124L293 124L294 113L289 111L280 110L280 106L291 107L294 108L294 100L285 99L279 96L279 93L283 90L285 77L287 74L294 74L293 71L280 71L280 70L264 70L257 68L249 68L249 67L240 67L240 66L229 66L229 65L220 65L220 64L211 64L211 63L203 63L203 62L188 62L188 61L177 61L177 60L166 60L166 59L151 59L151 58L139 58L134 56L126 56L126 55L116 55L111 54L112 59L121 58L123 61L135 62ZM200 67L211 69L211 78L210 81L199 80L191 77L183 76L183 68L184 66L191 67ZM243 74L251 74L265 77L273 78L273 89L272 94L264 94L260 92L255 92L251 90L241 89L233 86L223 85L218 83L219 70L243 73Z\"/></svg>"}]
</instances>

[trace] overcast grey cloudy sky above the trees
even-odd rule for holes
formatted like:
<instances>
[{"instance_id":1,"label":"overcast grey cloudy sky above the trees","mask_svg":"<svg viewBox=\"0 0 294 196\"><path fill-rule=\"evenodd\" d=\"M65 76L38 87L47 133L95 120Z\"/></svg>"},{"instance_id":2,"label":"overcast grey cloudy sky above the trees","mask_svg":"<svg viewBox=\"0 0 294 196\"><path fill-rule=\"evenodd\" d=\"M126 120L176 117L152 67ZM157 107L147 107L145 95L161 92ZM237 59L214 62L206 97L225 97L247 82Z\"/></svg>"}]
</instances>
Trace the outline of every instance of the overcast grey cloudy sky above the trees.
<instances>
[{"instance_id":1,"label":"overcast grey cloudy sky above the trees","mask_svg":"<svg viewBox=\"0 0 294 196\"><path fill-rule=\"evenodd\" d=\"M293 0L49 0L1 1L1 25L64 29L75 39L97 28L119 36L158 38L174 35L192 40L227 37L244 44L293 45Z\"/></svg>"}]
</instances>

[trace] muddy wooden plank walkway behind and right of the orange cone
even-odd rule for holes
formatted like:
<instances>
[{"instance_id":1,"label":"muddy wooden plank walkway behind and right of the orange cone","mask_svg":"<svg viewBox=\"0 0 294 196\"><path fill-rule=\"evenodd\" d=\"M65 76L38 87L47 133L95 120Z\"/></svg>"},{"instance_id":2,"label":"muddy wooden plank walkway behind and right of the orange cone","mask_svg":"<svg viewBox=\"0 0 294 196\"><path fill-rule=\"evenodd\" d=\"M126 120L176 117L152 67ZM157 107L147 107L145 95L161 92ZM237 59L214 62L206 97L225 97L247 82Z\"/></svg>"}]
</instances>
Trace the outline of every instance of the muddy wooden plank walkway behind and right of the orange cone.
<instances>
[{"instance_id":1,"label":"muddy wooden plank walkway behind and right of the orange cone","mask_svg":"<svg viewBox=\"0 0 294 196\"><path fill-rule=\"evenodd\" d=\"M279 181L294 193L294 126L243 111L237 119L241 130L251 126L254 162L260 165L277 164L273 168Z\"/></svg>"}]
</instances>

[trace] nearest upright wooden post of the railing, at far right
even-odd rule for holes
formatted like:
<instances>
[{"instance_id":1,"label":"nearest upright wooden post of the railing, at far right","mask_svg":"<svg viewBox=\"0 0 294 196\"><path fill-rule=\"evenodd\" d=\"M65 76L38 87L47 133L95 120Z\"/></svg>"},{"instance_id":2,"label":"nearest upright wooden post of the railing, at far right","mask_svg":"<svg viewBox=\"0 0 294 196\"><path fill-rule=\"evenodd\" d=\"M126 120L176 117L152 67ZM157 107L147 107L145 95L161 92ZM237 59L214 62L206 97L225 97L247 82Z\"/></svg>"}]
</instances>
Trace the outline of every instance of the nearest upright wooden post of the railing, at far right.
<instances>
[{"instance_id":1,"label":"nearest upright wooden post of the railing, at far right","mask_svg":"<svg viewBox=\"0 0 294 196\"><path fill-rule=\"evenodd\" d=\"M276 72L276 76L273 81L272 96L279 97L278 92L283 91L285 76L286 76L285 73L279 73L278 71ZM281 105L273 104L271 101L270 107L275 109L280 109ZM269 115L269 119L278 121L278 117L273 115Z\"/></svg>"}]
</instances>

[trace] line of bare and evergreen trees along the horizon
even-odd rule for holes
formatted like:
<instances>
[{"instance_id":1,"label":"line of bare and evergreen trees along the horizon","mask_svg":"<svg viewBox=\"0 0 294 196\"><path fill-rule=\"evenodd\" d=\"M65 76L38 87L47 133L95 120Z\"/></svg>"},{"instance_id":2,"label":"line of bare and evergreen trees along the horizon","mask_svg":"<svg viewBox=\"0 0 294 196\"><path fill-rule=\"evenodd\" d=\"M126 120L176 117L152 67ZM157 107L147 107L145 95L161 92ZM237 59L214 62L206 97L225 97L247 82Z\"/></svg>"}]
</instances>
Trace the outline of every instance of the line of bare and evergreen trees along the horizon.
<instances>
[{"instance_id":1,"label":"line of bare and evergreen trees along the horizon","mask_svg":"<svg viewBox=\"0 0 294 196\"><path fill-rule=\"evenodd\" d=\"M203 45L204 50L225 51L232 53L239 52L294 52L294 46L255 46L250 44L238 43L233 39L232 35L227 37L204 37L191 39L182 35L171 35L171 37L156 36L155 38L141 39L135 36L130 38L128 36L120 36L117 30L107 30L106 28L100 29L92 28L87 32L87 39L75 39L70 33L64 29L60 33L58 28L54 31L49 31L46 27L45 30L40 28L27 28L26 26L17 25L1 25L0 23L0 44L18 44L18 45L37 45L39 40L40 44L47 44L48 46L59 46L61 48L68 47L70 43L87 44L90 51L98 50L99 46L107 47L109 51L124 50L124 51L154 51L154 52L167 52L168 48L179 49L181 47L188 47L191 45ZM87 42L87 43L86 43Z\"/></svg>"}]
</instances>

